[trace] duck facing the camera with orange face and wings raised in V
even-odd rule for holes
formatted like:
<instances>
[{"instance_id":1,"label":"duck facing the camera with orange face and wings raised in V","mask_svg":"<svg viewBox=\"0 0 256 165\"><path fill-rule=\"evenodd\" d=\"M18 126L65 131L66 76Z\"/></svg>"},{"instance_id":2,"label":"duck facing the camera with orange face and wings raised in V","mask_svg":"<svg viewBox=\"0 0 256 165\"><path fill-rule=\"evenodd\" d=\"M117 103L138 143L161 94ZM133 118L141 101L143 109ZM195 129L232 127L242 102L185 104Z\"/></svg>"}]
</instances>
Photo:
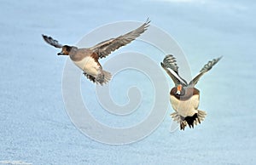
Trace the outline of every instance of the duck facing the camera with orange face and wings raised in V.
<instances>
[{"instance_id":1,"label":"duck facing the camera with orange face and wings raised in V","mask_svg":"<svg viewBox=\"0 0 256 165\"><path fill-rule=\"evenodd\" d=\"M172 78L175 87L170 91L170 102L174 112L170 115L174 122L180 124L180 130L184 130L186 126L194 128L200 124L207 116L206 111L198 109L200 103L200 90L195 88L199 79L216 65L221 57L210 60L203 66L201 71L187 83L183 77L178 74L177 60L172 54L166 55L164 60L160 62L161 67Z\"/></svg>"}]
</instances>

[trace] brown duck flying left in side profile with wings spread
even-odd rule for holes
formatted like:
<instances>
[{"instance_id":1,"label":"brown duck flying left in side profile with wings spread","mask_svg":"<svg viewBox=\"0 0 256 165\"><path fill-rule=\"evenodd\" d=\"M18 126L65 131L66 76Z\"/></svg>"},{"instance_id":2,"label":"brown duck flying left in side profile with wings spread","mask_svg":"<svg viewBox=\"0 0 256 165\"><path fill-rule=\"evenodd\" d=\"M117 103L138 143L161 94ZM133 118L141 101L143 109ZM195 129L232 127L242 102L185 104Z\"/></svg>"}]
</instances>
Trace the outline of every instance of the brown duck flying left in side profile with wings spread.
<instances>
[{"instance_id":1,"label":"brown duck flying left in side profile with wings spread","mask_svg":"<svg viewBox=\"0 0 256 165\"><path fill-rule=\"evenodd\" d=\"M131 43L144 31L148 29L150 20L146 20L142 26L125 33L119 37L111 38L102 43L98 43L90 48L78 48L76 46L62 45L53 37L42 34L44 41L55 48L61 48L58 55L68 55L75 65L83 71L84 77L87 77L92 83L106 84L110 81L112 75L102 69L99 60L111 54L114 50Z\"/></svg>"}]
</instances>

